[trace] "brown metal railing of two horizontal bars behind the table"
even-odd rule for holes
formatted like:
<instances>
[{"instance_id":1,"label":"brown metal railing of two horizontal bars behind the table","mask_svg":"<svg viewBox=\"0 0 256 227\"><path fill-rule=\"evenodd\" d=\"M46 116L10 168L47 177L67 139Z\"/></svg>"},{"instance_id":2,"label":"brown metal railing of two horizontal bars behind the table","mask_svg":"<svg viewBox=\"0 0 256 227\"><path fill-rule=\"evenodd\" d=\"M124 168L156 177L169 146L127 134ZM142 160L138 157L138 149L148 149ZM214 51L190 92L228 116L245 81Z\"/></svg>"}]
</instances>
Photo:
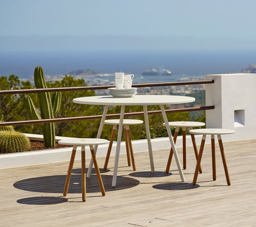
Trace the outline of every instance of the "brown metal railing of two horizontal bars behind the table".
<instances>
[{"instance_id":1,"label":"brown metal railing of two horizontal bars behind the table","mask_svg":"<svg viewBox=\"0 0 256 227\"><path fill-rule=\"evenodd\" d=\"M165 87L172 85L193 85L193 84L211 84L214 80L194 80L187 82L166 82L166 83L145 83L145 84L133 84L132 87ZM72 91L72 90L99 90L115 87L115 85L101 85L101 86L86 86L86 87L66 87L66 88L41 88L41 89L18 89L18 90L0 90L2 94L24 94L24 93L40 93L40 92L56 92L56 91ZM191 108L180 108L180 109L166 109L166 113L175 112L189 112L197 110L214 109L214 105L202 106L202 107L191 107ZM159 114L161 110L154 110L147 112L148 114ZM125 117L134 115L143 115L144 112L125 113ZM40 124L50 122L70 122L75 120L88 120L88 119L100 119L102 115L82 116L82 117L67 117L67 118L53 118L53 119L40 119L40 120L23 120L18 122L0 122L0 126L7 125L24 125L24 124ZM106 118L120 117L120 114L107 114Z\"/></svg>"}]
</instances>

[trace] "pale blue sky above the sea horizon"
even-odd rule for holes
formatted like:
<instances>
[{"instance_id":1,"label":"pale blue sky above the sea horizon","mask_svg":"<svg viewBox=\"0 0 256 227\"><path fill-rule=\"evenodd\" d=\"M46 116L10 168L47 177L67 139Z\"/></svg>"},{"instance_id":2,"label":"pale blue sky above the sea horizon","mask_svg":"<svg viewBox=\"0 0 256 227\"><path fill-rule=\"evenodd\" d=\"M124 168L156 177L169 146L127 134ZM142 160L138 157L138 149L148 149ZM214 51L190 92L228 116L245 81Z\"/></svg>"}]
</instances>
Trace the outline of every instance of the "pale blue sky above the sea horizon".
<instances>
[{"instance_id":1,"label":"pale blue sky above the sea horizon","mask_svg":"<svg viewBox=\"0 0 256 227\"><path fill-rule=\"evenodd\" d=\"M255 0L0 0L0 51L256 49Z\"/></svg>"}]
</instances>

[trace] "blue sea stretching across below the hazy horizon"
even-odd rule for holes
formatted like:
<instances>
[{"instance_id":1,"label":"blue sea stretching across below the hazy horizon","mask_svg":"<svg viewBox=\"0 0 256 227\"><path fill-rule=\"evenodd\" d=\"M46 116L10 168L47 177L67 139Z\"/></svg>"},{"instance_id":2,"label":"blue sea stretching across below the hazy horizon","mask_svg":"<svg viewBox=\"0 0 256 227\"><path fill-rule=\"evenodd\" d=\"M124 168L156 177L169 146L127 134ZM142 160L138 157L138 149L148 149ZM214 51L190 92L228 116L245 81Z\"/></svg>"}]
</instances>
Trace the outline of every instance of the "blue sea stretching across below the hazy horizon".
<instances>
[{"instance_id":1,"label":"blue sea stretching across below the hazy horizon","mask_svg":"<svg viewBox=\"0 0 256 227\"><path fill-rule=\"evenodd\" d=\"M73 70L92 69L104 74L135 74L134 82L145 82L147 69L168 69L170 76L147 76L146 82L171 82L206 74L235 73L256 64L252 50L180 50L180 51L0 51L0 76L33 77L41 66L46 75L68 75Z\"/></svg>"}]
</instances>

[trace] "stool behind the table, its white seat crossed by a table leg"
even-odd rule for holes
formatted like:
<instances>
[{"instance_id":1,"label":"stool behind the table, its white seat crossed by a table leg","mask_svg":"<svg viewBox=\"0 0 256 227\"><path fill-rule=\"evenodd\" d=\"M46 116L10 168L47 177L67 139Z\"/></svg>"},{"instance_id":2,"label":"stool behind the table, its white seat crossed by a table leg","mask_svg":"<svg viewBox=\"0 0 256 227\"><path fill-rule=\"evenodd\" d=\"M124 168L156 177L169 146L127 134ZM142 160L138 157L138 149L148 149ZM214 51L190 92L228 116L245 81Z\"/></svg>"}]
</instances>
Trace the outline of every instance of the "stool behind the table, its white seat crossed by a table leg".
<instances>
[{"instance_id":1,"label":"stool behind the table, its white seat crossed by a table leg","mask_svg":"<svg viewBox=\"0 0 256 227\"><path fill-rule=\"evenodd\" d=\"M119 125L119 119L111 119L111 120L105 120L104 124L111 124L113 125L109 148L107 149L107 156L104 164L104 169L107 169L107 164L109 163L109 157L111 153L111 148L113 144L113 140L115 137L116 127ZM126 145L126 154L127 154L127 163L129 167L131 166L132 162L132 169L136 170L135 165L135 159L134 159L134 150L132 149L131 144L131 133L130 133L130 127L129 125L136 125L136 124L142 124L143 120L137 120L137 119L124 119L123 125L124 125L124 133L125 133L125 145Z\"/></svg>"}]
</instances>

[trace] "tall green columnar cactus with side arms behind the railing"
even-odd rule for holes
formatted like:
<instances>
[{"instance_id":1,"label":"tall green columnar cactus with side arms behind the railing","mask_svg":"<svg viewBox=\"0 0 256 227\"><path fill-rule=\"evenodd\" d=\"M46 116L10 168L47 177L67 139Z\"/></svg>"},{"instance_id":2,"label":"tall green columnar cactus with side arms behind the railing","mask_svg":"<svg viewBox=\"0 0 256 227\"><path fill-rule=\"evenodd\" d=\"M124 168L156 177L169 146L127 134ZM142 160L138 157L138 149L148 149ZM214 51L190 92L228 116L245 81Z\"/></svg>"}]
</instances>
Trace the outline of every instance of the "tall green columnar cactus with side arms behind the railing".
<instances>
[{"instance_id":1,"label":"tall green columnar cactus with side arms behind the railing","mask_svg":"<svg viewBox=\"0 0 256 227\"><path fill-rule=\"evenodd\" d=\"M45 82L45 75L42 67L36 67L34 73L34 80L36 88L47 88ZM61 92L55 92L51 95L50 92L37 93L37 97L40 105L40 113L37 112L36 106L29 95L24 98L24 106L27 109L32 119L52 119L54 114L58 113L61 106ZM43 140L45 141L45 147L55 147L55 127L54 123L43 124Z\"/></svg>"}]
</instances>

